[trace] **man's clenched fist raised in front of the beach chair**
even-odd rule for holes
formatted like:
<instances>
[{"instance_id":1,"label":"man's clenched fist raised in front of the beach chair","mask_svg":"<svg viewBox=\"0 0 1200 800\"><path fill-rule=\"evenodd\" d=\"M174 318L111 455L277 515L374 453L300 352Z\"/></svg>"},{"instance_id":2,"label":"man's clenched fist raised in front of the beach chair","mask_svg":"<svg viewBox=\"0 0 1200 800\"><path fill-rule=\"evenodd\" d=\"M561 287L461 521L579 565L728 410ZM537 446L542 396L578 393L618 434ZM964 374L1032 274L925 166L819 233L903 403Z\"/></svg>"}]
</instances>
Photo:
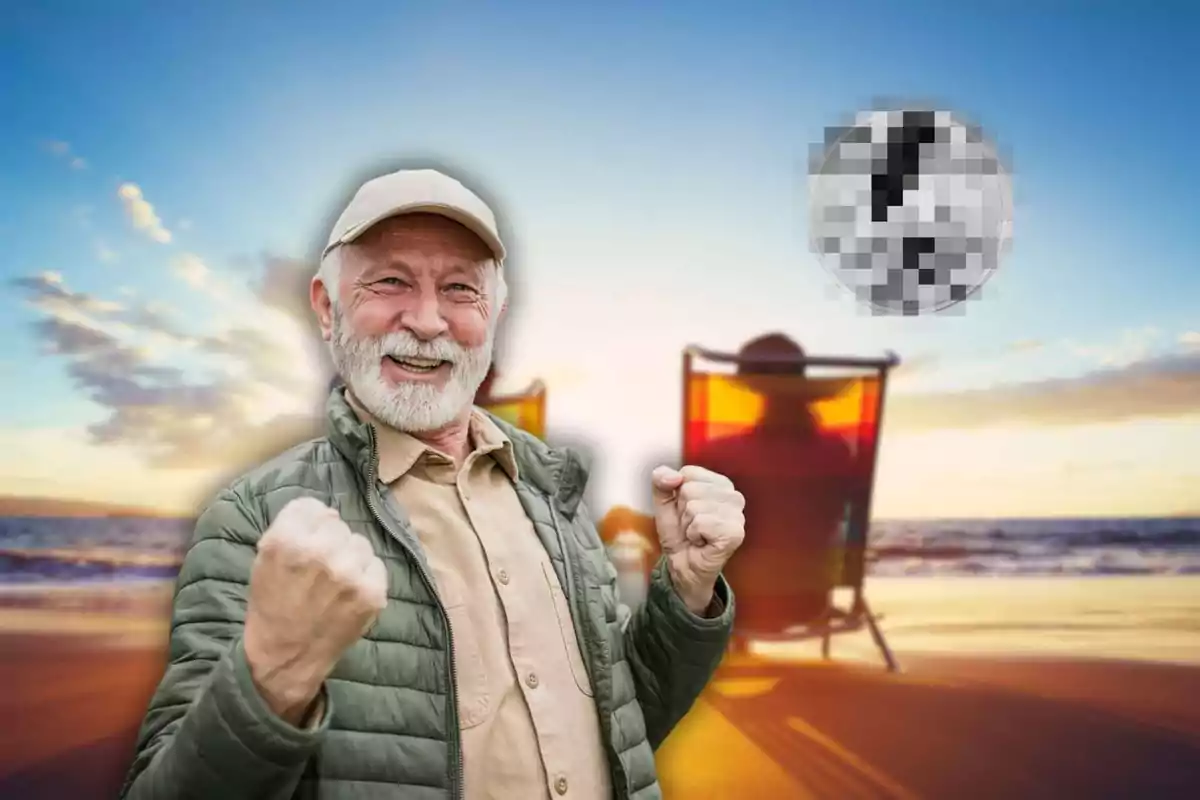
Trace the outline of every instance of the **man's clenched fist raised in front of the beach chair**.
<instances>
[{"instance_id":1,"label":"man's clenched fist raised in front of the beach chair","mask_svg":"<svg viewBox=\"0 0 1200 800\"><path fill-rule=\"evenodd\" d=\"M703 614L721 569L745 537L745 498L730 479L702 467L659 467L650 482L671 581L688 608Z\"/></svg>"}]
</instances>

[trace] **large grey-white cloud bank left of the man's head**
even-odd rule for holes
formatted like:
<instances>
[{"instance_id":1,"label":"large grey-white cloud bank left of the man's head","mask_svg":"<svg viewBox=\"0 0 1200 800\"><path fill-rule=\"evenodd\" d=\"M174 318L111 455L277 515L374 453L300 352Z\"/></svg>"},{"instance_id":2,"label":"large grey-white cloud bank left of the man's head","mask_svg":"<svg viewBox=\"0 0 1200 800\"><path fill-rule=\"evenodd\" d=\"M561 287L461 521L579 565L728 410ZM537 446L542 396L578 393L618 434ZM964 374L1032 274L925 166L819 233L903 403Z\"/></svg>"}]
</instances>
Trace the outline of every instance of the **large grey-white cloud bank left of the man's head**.
<instances>
[{"instance_id":1,"label":"large grey-white cloud bank left of the man's head","mask_svg":"<svg viewBox=\"0 0 1200 800\"><path fill-rule=\"evenodd\" d=\"M181 319L162 303L73 291L58 273L13 282L42 312L44 350L106 411L86 431L90 444L191 474L246 468L314 435L328 378L296 320L248 287L236 293L194 255L175 266L200 296L228 290L217 301L224 313ZM217 315L234 325L215 330Z\"/></svg>"}]
</instances>

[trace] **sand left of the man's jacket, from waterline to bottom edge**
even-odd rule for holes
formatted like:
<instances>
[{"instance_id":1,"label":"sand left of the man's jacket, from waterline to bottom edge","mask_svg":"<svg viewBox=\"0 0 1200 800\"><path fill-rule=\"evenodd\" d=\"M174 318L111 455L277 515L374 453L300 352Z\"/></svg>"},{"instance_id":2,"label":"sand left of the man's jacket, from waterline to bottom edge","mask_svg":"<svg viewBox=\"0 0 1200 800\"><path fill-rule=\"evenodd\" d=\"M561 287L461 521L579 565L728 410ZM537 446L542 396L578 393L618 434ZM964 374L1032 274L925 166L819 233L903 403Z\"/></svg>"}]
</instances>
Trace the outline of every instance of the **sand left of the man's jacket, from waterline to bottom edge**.
<instances>
[{"instance_id":1,"label":"sand left of the man's jacket, from waterline to bottom edge","mask_svg":"<svg viewBox=\"0 0 1200 800\"><path fill-rule=\"evenodd\" d=\"M167 658L172 585L0 590L0 798L113 798Z\"/></svg>"}]
</instances>

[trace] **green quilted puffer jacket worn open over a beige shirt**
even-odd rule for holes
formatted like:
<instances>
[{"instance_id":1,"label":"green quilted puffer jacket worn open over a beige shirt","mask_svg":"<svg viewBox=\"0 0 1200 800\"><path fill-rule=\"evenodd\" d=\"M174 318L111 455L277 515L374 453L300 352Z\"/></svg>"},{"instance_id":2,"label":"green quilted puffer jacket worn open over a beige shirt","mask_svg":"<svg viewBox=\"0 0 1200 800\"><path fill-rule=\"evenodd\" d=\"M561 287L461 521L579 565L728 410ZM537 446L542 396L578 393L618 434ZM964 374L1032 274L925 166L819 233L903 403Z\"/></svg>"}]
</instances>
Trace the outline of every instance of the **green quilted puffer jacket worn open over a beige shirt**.
<instances>
[{"instance_id":1,"label":"green quilted puffer jacket worn open over a beige shirt","mask_svg":"<svg viewBox=\"0 0 1200 800\"><path fill-rule=\"evenodd\" d=\"M374 429L328 403L328 435L223 489L196 523L175 588L169 662L138 736L121 798L322 800L462 796L450 626L404 510L379 483ZM492 417L512 440L526 513L570 599L594 686L616 798L660 798L654 750L720 661L734 602L691 614L664 564L636 613L582 503L587 471L570 450ZM314 497L371 539L388 566L389 603L325 681L325 716L300 730L251 682L241 631L254 546L289 500Z\"/></svg>"}]
</instances>

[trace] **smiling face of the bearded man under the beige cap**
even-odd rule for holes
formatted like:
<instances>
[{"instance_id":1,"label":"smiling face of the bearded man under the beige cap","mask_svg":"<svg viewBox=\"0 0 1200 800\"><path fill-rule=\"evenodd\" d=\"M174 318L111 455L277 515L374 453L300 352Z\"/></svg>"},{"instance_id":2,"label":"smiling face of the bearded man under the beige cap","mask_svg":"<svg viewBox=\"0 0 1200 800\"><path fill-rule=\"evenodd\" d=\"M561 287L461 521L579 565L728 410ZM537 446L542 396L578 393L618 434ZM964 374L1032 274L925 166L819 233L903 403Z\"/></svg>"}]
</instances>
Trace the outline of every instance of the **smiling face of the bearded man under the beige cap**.
<instances>
[{"instance_id":1,"label":"smiling face of the bearded man under the beige cap","mask_svg":"<svg viewBox=\"0 0 1200 800\"><path fill-rule=\"evenodd\" d=\"M323 317L334 366L380 421L409 433L466 414L492 360L496 265L438 215L385 219L342 247L337 303Z\"/></svg>"}]
</instances>

